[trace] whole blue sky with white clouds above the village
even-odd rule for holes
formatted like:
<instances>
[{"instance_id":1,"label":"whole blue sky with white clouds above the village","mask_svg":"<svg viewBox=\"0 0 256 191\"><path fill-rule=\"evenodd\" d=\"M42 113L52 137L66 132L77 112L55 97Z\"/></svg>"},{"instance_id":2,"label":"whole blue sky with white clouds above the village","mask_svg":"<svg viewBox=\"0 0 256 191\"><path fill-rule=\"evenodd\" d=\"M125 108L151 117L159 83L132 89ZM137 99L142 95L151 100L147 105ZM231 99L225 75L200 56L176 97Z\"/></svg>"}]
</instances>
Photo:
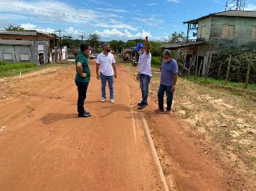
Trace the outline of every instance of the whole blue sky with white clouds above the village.
<instances>
[{"instance_id":1,"label":"whole blue sky with white clouds above the village","mask_svg":"<svg viewBox=\"0 0 256 191\"><path fill-rule=\"evenodd\" d=\"M62 35L97 33L103 41L141 38L161 40L186 31L182 21L224 11L226 0L0 0L0 29L9 24ZM247 0L246 10L256 11Z\"/></svg>"}]
</instances>

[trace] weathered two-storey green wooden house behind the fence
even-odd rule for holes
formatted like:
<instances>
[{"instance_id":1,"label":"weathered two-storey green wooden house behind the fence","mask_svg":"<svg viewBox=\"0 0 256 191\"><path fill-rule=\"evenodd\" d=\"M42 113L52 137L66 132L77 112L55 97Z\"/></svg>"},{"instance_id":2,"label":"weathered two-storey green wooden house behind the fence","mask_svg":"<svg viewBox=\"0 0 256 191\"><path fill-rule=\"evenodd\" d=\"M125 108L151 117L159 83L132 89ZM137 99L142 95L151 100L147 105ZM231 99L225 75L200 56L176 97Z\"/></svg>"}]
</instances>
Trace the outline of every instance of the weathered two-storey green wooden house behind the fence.
<instances>
[{"instance_id":1,"label":"weathered two-storey green wooden house behind the fence","mask_svg":"<svg viewBox=\"0 0 256 191\"><path fill-rule=\"evenodd\" d=\"M187 24L187 41L181 44L167 44L162 49L183 50L184 67L195 69L203 61L199 74L205 74L207 63L217 71L218 57L230 46L246 46L256 49L256 11L223 11L184 21ZM189 36L196 36L191 40Z\"/></svg>"}]
</instances>

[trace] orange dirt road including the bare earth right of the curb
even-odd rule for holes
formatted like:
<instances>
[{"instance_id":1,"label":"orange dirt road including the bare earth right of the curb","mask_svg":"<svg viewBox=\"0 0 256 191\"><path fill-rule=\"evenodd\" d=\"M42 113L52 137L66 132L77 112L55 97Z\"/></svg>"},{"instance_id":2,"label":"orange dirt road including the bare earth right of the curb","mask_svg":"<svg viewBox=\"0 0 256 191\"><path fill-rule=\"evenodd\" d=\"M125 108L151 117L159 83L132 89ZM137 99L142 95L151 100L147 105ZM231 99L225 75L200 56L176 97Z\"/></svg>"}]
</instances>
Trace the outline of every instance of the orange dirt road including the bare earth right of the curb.
<instances>
[{"instance_id":1,"label":"orange dirt road including the bare earth right of the curb","mask_svg":"<svg viewBox=\"0 0 256 191\"><path fill-rule=\"evenodd\" d=\"M0 84L0 190L163 190L136 103L138 82L118 65L115 104L100 103L95 63L78 119L75 68ZM171 115L143 111L170 190L234 190L227 172ZM134 120L133 120L134 116Z\"/></svg>"}]
</instances>

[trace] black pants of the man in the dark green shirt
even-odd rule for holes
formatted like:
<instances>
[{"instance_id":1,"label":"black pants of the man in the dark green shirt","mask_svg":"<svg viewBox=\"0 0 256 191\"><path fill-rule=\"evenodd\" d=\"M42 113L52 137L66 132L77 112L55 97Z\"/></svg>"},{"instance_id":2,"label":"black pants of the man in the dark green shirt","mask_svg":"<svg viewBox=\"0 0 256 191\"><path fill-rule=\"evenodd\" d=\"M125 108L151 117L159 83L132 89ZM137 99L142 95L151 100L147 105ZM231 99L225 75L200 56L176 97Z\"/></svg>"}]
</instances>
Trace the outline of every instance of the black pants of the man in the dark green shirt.
<instances>
[{"instance_id":1,"label":"black pants of the man in the dark green shirt","mask_svg":"<svg viewBox=\"0 0 256 191\"><path fill-rule=\"evenodd\" d=\"M88 83L75 82L77 85L78 99L77 99L77 112L83 114L85 112L84 104Z\"/></svg>"}]
</instances>

